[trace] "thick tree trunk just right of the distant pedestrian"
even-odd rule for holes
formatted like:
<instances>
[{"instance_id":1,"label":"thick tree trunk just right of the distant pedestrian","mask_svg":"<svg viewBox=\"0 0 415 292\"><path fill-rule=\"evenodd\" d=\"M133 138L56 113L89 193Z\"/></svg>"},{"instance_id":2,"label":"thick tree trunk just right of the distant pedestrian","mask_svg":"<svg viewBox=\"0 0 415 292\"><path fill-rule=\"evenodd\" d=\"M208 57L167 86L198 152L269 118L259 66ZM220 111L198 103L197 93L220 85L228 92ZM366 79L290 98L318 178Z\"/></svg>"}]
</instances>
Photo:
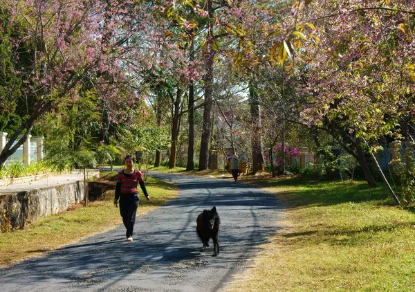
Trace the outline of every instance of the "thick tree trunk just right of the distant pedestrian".
<instances>
[{"instance_id":1,"label":"thick tree trunk just right of the distant pedestrian","mask_svg":"<svg viewBox=\"0 0 415 292\"><path fill-rule=\"evenodd\" d=\"M252 121L252 172L258 172L262 170L262 165L264 165L261 137L261 107L259 106L257 86L252 80L250 81L249 93Z\"/></svg>"}]
</instances>

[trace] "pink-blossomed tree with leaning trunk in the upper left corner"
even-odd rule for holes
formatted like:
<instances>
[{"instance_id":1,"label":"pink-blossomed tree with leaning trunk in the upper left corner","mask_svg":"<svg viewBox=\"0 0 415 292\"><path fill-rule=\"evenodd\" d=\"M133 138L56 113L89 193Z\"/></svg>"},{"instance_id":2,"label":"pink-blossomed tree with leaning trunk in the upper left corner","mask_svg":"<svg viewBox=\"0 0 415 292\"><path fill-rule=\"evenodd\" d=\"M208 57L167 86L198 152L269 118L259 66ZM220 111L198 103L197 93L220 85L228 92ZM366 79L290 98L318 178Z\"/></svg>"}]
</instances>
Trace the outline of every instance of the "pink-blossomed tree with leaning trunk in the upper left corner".
<instances>
[{"instance_id":1,"label":"pink-blossomed tree with leaning trunk in the upper left corner","mask_svg":"<svg viewBox=\"0 0 415 292\"><path fill-rule=\"evenodd\" d=\"M1 167L24 143L35 122L75 101L80 86L98 92L115 106L110 112L117 112L120 87L114 84L128 79L120 56L129 51L127 40L139 24L128 16L133 1L7 0L0 5L11 15L4 25L14 31L12 70L22 80L22 100L28 109L0 154Z\"/></svg>"}]
</instances>

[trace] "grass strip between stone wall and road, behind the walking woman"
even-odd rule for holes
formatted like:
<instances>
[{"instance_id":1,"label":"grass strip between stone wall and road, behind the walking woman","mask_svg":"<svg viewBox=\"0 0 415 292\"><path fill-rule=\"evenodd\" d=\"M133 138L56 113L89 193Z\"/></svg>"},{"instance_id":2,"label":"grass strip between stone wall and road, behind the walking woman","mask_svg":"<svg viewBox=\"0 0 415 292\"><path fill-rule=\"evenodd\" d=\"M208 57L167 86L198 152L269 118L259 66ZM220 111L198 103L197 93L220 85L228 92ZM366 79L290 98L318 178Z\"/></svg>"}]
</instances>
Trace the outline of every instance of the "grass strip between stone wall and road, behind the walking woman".
<instances>
[{"instance_id":1,"label":"grass strip between stone wall and road, behind the walking woman","mask_svg":"<svg viewBox=\"0 0 415 292\"><path fill-rule=\"evenodd\" d=\"M146 187L150 201L145 201L140 193L138 216L162 206L178 194L175 185L151 177L147 178ZM108 191L103 199L89 203L89 208L74 206L65 212L28 224L23 230L0 233L0 266L116 228L122 221L119 209L113 206L113 198L114 191Z\"/></svg>"}]
</instances>

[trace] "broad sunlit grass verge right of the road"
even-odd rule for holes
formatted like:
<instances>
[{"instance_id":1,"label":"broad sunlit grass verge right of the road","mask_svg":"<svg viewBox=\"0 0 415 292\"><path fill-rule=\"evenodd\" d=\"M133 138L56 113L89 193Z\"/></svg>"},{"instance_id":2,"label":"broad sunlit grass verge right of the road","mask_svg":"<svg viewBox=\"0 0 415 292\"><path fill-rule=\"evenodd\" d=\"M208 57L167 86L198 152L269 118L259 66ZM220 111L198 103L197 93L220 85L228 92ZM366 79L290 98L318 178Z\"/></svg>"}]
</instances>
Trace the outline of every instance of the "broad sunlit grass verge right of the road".
<instances>
[{"instance_id":1,"label":"broad sunlit grass verge right of the road","mask_svg":"<svg viewBox=\"0 0 415 292\"><path fill-rule=\"evenodd\" d=\"M226 291L415 291L414 211L391 206L385 188L304 177L254 183L287 207L289 227Z\"/></svg>"}]
</instances>

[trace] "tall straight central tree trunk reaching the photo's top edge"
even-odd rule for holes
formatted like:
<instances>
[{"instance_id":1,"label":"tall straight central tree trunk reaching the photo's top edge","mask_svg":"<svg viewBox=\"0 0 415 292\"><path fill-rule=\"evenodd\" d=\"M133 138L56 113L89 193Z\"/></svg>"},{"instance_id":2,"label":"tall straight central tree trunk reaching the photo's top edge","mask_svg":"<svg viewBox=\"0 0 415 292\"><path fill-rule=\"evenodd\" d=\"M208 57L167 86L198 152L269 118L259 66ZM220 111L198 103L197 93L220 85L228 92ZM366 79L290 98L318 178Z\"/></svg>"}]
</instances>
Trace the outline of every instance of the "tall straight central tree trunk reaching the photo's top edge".
<instances>
[{"instance_id":1,"label":"tall straight central tree trunk reaching the photo's top edge","mask_svg":"<svg viewBox=\"0 0 415 292\"><path fill-rule=\"evenodd\" d=\"M208 169L210 127L212 125L212 93L213 93L213 57L214 50L212 48L214 42L213 27L213 7L212 1L208 0L208 39L206 40L206 74L205 74L205 102L203 104L203 126L201 139L201 152L199 155L199 170Z\"/></svg>"}]
</instances>

